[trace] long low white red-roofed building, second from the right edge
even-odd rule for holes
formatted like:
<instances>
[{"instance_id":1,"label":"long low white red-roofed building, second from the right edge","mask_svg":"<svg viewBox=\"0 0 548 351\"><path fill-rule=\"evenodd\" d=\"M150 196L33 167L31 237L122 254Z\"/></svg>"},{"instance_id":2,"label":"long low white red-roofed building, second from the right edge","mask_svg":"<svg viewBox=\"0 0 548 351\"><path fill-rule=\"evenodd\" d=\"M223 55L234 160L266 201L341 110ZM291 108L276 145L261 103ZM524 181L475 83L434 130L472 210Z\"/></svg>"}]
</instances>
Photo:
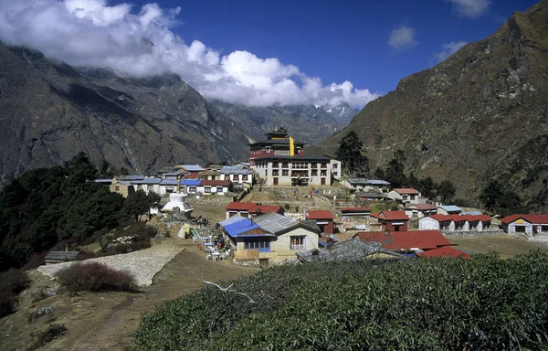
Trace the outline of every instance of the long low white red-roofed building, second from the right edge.
<instances>
[{"instance_id":1,"label":"long low white red-roofed building, second from the right edge","mask_svg":"<svg viewBox=\"0 0 548 351\"><path fill-rule=\"evenodd\" d=\"M432 215L418 219L419 230L485 231L490 225L491 218L485 215Z\"/></svg>"}]
</instances>

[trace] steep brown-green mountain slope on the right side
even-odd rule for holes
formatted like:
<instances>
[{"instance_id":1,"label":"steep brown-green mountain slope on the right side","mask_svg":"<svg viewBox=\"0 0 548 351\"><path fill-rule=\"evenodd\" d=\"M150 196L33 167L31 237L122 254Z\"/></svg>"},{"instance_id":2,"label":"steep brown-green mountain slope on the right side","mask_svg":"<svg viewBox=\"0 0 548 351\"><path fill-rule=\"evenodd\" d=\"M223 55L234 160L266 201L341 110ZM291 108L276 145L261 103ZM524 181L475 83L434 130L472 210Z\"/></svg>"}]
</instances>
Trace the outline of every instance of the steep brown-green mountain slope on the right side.
<instances>
[{"instance_id":1,"label":"steep brown-green mountain slope on the right side","mask_svg":"<svg viewBox=\"0 0 548 351\"><path fill-rule=\"evenodd\" d=\"M401 80L367 104L315 152L333 153L349 131L364 141L372 169L394 151L406 167L450 179L475 198L490 177L531 198L548 169L548 0L515 13L494 35ZM534 173L532 183L522 179Z\"/></svg>"}]
</instances>

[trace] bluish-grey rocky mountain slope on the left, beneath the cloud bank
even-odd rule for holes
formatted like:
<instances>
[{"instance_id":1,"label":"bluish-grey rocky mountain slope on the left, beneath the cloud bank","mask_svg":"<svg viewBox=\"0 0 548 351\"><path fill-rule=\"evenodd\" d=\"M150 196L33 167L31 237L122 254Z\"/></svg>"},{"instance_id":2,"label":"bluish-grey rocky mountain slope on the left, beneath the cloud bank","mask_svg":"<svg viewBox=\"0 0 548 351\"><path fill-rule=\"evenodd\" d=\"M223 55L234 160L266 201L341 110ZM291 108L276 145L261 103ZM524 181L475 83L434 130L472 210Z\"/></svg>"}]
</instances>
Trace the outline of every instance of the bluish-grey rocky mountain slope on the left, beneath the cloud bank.
<instances>
[{"instance_id":1,"label":"bluish-grey rocky mountain slope on the left, beneath the cloud bank","mask_svg":"<svg viewBox=\"0 0 548 351\"><path fill-rule=\"evenodd\" d=\"M235 123L176 76L73 69L0 43L1 183L84 151L137 172L248 156ZM0 183L0 185L1 185Z\"/></svg>"}]
</instances>

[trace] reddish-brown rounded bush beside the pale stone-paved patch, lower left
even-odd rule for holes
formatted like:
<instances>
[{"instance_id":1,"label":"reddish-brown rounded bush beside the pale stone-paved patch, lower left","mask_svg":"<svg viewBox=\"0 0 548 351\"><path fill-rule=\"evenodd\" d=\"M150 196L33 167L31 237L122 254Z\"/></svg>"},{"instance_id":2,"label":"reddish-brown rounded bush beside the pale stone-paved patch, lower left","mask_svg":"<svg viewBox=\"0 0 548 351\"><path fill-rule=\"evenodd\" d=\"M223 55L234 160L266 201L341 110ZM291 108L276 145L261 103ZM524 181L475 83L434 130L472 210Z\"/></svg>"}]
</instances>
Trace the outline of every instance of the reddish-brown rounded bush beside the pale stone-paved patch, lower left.
<instances>
[{"instance_id":1,"label":"reddish-brown rounded bush beside the pale stone-paved patch, lower left","mask_svg":"<svg viewBox=\"0 0 548 351\"><path fill-rule=\"evenodd\" d=\"M69 292L136 292L132 274L99 262L74 263L58 271L58 282Z\"/></svg>"}]
</instances>

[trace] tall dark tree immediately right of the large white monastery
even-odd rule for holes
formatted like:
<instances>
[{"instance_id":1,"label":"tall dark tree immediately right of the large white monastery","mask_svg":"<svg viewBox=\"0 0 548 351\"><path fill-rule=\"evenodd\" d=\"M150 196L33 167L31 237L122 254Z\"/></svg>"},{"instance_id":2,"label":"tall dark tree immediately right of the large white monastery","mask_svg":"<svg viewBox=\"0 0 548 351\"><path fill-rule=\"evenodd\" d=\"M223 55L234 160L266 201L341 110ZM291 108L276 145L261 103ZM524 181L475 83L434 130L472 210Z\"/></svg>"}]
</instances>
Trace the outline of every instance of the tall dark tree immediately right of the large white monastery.
<instances>
[{"instance_id":1,"label":"tall dark tree immediately right of the large white monastery","mask_svg":"<svg viewBox=\"0 0 548 351\"><path fill-rule=\"evenodd\" d=\"M362 154L364 143L355 132L347 133L337 148L337 159L341 160L346 174L362 176L369 174L369 160Z\"/></svg>"}]
</instances>

